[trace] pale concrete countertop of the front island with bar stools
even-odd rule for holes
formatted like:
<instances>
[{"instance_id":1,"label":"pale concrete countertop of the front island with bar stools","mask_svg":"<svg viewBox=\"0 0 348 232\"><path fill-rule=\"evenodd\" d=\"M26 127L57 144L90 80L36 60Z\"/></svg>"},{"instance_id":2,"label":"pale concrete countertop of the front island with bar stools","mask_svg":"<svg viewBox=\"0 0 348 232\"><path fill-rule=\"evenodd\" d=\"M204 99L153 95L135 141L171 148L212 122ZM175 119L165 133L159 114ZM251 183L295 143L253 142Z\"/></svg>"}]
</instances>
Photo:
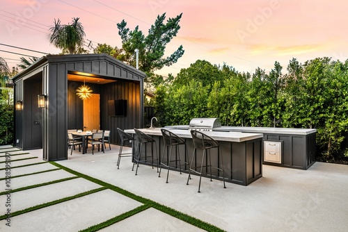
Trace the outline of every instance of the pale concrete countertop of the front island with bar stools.
<instances>
[{"instance_id":1,"label":"pale concrete countertop of the front island with bar stools","mask_svg":"<svg viewBox=\"0 0 348 232\"><path fill-rule=\"evenodd\" d=\"M175 133L175 135L181 138L192 138L191 132L189 130L175 129L171 127L165 128L168 131ZM139 129L147 135L157 135L162 136L161 128L156 129ZM134 129L125 130L127 133L135 133ZM227 142L244 142L248 140L255 140L257 138L263 138L262 133L242 133L242 132L228 132L228 131L203 131L206 135L212 137L217 141L227 141Z\"/></svg>"}]
</instances>

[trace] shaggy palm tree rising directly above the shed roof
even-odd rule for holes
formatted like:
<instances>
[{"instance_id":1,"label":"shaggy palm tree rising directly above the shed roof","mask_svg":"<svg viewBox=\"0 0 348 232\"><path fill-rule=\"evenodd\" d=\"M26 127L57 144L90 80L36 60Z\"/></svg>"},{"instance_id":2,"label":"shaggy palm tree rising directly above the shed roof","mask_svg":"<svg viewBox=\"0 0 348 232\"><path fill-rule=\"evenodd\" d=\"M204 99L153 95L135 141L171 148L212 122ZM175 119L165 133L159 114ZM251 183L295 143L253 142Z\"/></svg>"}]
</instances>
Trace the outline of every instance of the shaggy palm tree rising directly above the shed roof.
<instances>
[{"instance_id":1,"label":"shaggy palm tree rising directly above the shed roof","mask_svg":"<svg viewBox=\"0 0 348 232\"><path fill-rule=\"evenodd\" d=\"M84 26L78 22L79 18L72 18L72 24L61 25L61 20L54 19L54 26L49 28L49 42L58 49L68 49L70 54L76 53L84 45Z\"/></svg>"}]
</instances>

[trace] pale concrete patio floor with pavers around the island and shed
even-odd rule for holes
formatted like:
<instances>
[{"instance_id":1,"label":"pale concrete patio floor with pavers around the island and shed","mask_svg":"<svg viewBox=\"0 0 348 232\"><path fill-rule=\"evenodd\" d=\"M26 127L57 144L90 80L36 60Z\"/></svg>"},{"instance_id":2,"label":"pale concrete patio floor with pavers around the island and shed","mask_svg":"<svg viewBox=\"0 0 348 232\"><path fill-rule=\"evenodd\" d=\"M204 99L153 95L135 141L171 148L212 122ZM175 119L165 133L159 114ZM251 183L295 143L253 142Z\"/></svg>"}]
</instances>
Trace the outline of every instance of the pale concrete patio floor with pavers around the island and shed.
<instances>
[{"instance_id":1,"label":"pale concrete patio floor with pavers around the island and shed","mask_svg":"<svg viewBox=\"0 0 348 232\"><path fill-rule=\"evenodd\" d=\"M151 199L192 217L213 224L225 231L347 231L348 218L348 166L315 163L308 170L289 169L263 165L263 177L248 186L203 179L198 193L198 176L186 185L187 174L162 170L161 178L156 169L141 165L138 175L132 172L131 158L122 158L117 169L118 146L112 145L103 154L95 152L82 155L78 149L68 160L57 163L111 185L118 186L138 196ZM0 161L5 151L0 147ZM130 151L129 148L124 152ZM11 176L30 174L11 179L12 190L74 177L74 174L42 162L42 150L10 151ZM37 156L38 158L31 158ZM14 161L15 159L31 158ZM5 163L0 163L0 168ZM41 172L57 169L52 172ZM0 170L0 178L6 176ZM45 202L69 197L80 192L100 188L100 185L83 178L31 188L11 194L11 212L37 206ZM6 190L5 180L0 181L1 192ZM0 196L0 213L6 213L6 194ZM11 217L11 226L0 221L0 231L79 231L102 223L111 217L132 210L141 203L118 192L106 189L84 197L53 206L33 210ZM137 213L102 231L201 231L180 219L154 208Z\"/></svg>"}]
</instances>

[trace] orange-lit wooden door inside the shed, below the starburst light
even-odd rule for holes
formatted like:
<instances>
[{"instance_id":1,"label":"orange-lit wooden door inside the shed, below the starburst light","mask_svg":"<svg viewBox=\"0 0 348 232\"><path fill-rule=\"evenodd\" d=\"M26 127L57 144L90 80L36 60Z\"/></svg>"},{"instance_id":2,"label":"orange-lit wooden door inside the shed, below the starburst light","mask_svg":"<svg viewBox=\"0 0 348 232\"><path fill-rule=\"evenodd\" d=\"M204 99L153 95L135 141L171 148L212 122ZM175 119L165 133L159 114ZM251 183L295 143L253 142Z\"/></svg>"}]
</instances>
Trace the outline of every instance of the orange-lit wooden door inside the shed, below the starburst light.
<instances>
[{"instance_id":1,"label":"orange-lit wooden door inside the shed, below the starburst light","mask_svg":"<svg viewBox=\"0 0 348 232\"><path fill-rule=\"evenodd\" d=\"M84 131L100 129L100 95L84 100Z\"/></svg>"}]
</instances>

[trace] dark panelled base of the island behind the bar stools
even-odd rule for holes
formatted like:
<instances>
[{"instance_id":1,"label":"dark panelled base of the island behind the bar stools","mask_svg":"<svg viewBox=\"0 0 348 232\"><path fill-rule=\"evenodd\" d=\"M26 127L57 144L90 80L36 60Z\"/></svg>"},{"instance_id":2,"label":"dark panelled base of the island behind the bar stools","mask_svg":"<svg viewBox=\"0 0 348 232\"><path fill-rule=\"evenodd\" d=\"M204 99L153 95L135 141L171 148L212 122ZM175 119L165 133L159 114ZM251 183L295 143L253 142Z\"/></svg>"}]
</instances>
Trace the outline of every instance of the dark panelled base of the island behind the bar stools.
<instances>
[{"instance_id":1,"label":"dark panelled base of the island behind the bar stools","mask_svg":"<svg viewBox=\"0 0 348 232\"><path fill-rule=\"evenodd\" d=\"M162 152L164 150L164 142L161 136L151 135L152 138L155 138L157 144L157 152L159 159L162 156ZM185 147L184 145L180 145L180 152L178 149L173 147L172 160L174 156L179 156L180 160L185 161L187 163L191 163L191 158L193 155L193 141L192 139L185 139L187 143L187 154L189 156L189 160L187 160L184 156ZM238 185L248 185L256 181L257 179L262 177L262 138L258 138L255 140L248 140L246 142L226 142L226 141L218 141L221 146L221 151L223 154L223 160L219 160L217 154L218 149L211 149L210 155L212 159L212 165L216 167L222 167L225 171L225 181L230 183L235 183ZM155 156L155 144L143 144L143 149L141 151L142 156L148 156L151 152L154 152ZM164 160L159 162L166 162L169 155L169 150L166 149L166 154L164 156ZM133 147L134 154L134 147ZM203 153L202 151L197 152L196 160L193 160L192 168L200 167L200 163L202 160ZM207 156L206 156L207 158ZM141 163L145 165L151 165L151 163L147 163L146 160L142 160ZM189 165L183 165L182 162L182 172L188 173ZM176 164L176 171L179 171L179 163ZM171 163L171 167L175 166L175 163ZM175 168L175 167L174 167ZM171 168L173 169L173 168ZM199 168L200 169L200 168ZM207 169L203 168L203 176L210 177L206 175ZM194 174L194 173L192 173ZM217 175L212 176L213 179L222 180L222 172L219 172Z\"/></svg>"}]
</instances>

